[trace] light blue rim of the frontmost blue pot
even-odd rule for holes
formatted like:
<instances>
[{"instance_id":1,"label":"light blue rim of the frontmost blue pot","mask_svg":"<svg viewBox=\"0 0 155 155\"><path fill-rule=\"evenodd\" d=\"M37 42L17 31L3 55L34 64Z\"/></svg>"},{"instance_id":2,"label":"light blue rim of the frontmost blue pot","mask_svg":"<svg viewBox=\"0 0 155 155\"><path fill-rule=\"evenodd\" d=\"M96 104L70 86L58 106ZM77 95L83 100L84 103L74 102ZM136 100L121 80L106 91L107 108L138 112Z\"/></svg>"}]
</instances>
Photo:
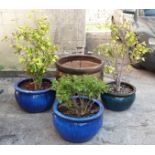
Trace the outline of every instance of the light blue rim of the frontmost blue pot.
<instances>
[{"instance_id":1,"label":"light blue rim of the frontmost blue pot","mask_svg":"<svg viewBox=\"0 0 155 155\"><path fill-rule=\"evenodd\" d=\"M76 99L79 98L78 96L72 96L72 99ZM86 96L80 96L80 98L82 99L88 99L88 97ZM103 114L104 111L104 106L103 104L97 100L97 99L91 99L93 102L95 102L98 106L99 106L99 111L92 115L92 116L88 116L88 117L82 117L82 118L77 118L77 117L71 117L71 116L66 116L64 114L62 114L61 112L58 111L58 104L59 104L59 100L56 99L55 103L53 105L53 112L55 115L59 116L62 119L68 120L68 121L73 121L73 122L88 122L88 121L92 121L97 119L98 117L100 117Z\"/></svg>"}]
</instances>

